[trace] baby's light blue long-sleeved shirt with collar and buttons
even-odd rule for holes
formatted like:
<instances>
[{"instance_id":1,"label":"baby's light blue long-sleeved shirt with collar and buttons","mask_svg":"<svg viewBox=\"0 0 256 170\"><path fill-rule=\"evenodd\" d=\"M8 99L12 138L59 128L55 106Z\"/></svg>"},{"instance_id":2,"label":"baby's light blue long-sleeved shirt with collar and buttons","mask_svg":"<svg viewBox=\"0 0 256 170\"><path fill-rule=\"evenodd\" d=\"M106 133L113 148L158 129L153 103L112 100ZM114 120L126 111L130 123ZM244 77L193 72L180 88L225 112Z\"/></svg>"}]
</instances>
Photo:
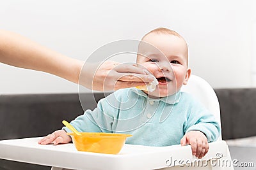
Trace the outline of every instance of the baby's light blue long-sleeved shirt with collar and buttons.
<instances>
[{"instance_id":1,"label":"baby's light blue long-sleeved shirt with collar and buttons","mask_svg":"<svg viewBox=\"0 0 256 170\"><path fill-rule=\"evenodd\" d=\"M184 134L194 130L204 132L211 142L221 131L214 116L190 94L152 99L136 88L117 90L70 124L81 132L132 134L126 143L148 146L180 144Z\"/></svg>"}]
</instances>

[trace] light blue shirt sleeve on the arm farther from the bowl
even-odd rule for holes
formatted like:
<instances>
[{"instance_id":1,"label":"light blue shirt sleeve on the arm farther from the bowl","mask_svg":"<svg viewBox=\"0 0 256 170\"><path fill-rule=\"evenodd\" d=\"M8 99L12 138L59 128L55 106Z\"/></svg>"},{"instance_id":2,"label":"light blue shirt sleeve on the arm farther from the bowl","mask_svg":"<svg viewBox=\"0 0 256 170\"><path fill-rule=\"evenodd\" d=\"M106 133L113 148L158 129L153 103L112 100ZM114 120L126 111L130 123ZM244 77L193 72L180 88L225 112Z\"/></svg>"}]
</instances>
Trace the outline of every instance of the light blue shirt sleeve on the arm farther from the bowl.
<instances>
[{"instance_id":1,"label":"light blue shirt sleeve on the arm farther from the bowl","mask_svg":"<svg viewBox=\"0 0 256 170\"><path fill-rule=\"evenodd\" d=\"M216 141L220 136L221 128L214 115L199 101L195 101L191 105L184 132L201 131L207 137L208 142Z\"/></svg>"}]
</instances>

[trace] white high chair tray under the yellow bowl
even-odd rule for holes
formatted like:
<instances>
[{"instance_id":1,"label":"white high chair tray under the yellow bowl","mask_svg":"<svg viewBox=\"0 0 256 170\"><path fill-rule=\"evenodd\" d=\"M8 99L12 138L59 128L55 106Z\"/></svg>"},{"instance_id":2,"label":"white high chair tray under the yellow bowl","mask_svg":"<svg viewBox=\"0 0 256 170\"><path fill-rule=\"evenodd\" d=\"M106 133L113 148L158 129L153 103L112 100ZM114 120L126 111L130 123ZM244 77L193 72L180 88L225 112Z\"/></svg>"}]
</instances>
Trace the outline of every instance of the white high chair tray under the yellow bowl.
<instances>
[{"instance_id":1,"label":"white high chair tray under the yellow bowl","mask_svg":"<svg viewBox=\"0 0 256 170\"><path fill-rule=\"evenodd\" d=\"M39 138L0 141L0 158L68 169L159 169L177 160L195 160L191 146L140 146L124 145L117 155L79 152L72 143L65 145L39 145ZM227 156L227 143L209 143L210 149L202 160ZM217 155L217 156L216 156Z\"/></svg>"}]
</instances>

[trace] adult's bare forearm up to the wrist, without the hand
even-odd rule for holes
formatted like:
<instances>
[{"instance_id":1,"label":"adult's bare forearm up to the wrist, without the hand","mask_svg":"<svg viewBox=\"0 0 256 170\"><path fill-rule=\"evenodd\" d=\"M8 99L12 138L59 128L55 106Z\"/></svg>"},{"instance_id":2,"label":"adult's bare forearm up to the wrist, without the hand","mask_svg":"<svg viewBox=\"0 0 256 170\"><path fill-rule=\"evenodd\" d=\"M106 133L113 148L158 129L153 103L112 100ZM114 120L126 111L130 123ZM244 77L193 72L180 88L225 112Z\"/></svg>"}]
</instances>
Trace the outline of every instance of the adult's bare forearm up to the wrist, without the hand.
<instances>
[{"instance_id":1,"label":"adult's bare forearm up to the wrist, without the hand","mask_svg":"<svg viewBox=\"0 0 256 170\"><path fill-rule=\"evenodd\" d=\"M83 61L72 59L10 31L0 30L0 62L44 71L78 83Z\"/></svg>"}]
</instances>

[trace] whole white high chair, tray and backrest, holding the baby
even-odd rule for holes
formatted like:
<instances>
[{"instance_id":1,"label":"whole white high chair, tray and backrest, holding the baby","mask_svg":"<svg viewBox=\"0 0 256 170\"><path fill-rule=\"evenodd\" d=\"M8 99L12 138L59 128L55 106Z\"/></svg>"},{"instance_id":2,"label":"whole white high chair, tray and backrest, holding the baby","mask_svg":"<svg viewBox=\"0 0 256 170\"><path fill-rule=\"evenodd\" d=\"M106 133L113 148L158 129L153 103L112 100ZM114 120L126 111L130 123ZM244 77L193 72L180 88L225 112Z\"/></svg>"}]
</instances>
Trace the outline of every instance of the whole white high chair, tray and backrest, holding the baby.
<instances>
[{"instance_id":1,"label":"whole white high chair, tray and backrest, holding the baby","mask_svg":"<svg viewBox=\"0 0 256 170\"><path fill-rule=\"evenodd\" d=\"M182 91L195 96L205 104L220 123L220 106L211 85L191 75ZM234 169L227 143L221 140L209 143L209 152L202 159L192 155L191 146L124 145L117 155L77 152L72 143L65 145L37 145L38 138L0 141L0 158L52 166L63 169ZM17 153L22 156L17 156Z\"/></svg>"}]
</instances>

